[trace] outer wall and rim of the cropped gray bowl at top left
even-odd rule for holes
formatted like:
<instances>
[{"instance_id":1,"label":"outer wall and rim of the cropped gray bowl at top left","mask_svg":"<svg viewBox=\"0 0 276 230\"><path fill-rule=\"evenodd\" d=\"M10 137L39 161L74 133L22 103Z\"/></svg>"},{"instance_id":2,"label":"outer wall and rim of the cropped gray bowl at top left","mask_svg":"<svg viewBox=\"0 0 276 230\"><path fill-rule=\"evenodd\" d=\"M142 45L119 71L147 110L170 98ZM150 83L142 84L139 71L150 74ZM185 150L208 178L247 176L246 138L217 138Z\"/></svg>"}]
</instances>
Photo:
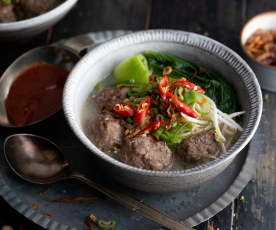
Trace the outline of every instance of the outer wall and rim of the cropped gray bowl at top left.
<instances>
[{"instance_id":1,"label":"outer wall and rim of the cropped gray bowl at top left","mask_svg":"<svg viewBox=\"0 0 276 230\"><path fill-rule=\"evenodd\" d=\"M37 0L39 1L39 0ZM65 0L51 11L37 17L0 23L0 41L16 41L34 37L59 22L78 0Z\"/></svg>"}]
</instances>

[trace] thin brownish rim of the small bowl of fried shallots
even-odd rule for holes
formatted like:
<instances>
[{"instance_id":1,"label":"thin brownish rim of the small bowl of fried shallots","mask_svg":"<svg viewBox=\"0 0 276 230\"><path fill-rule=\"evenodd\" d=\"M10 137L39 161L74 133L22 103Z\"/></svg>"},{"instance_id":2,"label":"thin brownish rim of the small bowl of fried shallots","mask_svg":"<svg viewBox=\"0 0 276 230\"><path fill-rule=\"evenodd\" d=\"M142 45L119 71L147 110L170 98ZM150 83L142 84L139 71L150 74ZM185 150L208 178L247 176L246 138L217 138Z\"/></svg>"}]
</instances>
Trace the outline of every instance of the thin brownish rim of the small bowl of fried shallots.
<instances>
[{"instance_id":1,"label":"thin brownish rim of the small bowl of fried shallots","mask_svg":"<svg viewBox=\"0 0 276 230\"><path fill-rule=\"evenodd\" d=\"M263 13L260 13L260 14L257 14L255 15L254 17L250 18L242 27L241 29L241 32L240 32L240 46L242 48L242 51L243 53L245 53L245 55L251 60L253 61L255 64L261 66L261 67L264 67L264 68L267 68L267 69L270 69L270 70L276 70L276 66L271 66L271 65L267 65L267 64L263 64L263 63L260 63L258 62L256 59L254 59L253 57L251 57L247 51L245 50L244 48L244 45L242 44L242 37L243 37L243 34L244 34L244 31L246 30L246 27L254 20L256 20L257 18L260 18L260 17L263 17L263 16L267 16L269 14L273 14L276 16L276 10L272 10L272 11L266 11L266 12L263 12Z\"/></svg>"}]
</instances>

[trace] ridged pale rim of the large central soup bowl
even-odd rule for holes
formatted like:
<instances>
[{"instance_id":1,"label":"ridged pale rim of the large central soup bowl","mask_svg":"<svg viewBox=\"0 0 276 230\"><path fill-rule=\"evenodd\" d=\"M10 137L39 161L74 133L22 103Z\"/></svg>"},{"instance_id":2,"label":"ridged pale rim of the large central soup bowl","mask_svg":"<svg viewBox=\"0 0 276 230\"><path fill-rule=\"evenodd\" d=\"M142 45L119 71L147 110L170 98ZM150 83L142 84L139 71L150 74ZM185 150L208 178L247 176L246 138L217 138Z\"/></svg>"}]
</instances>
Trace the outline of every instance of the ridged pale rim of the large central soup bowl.
<instances>
[{"instance_id":1,"label":"ridged pale rim of the large central soup bowl","mask_svg":"<svg viewBox=\"0 0 276 230\"><path fill-rule=\"evenodd\" d=\"M192 37L193 39L191 39ZM195 39L196 38L196 39ZM234 143L234 145L225 153L223 153L219 158L207 162L205 164L201 164L199 166L195 166L191 169L183 169L177 171L153 171L147 169L140 169L134 166L130 166L128 164L122 163L119 160L116 160L109 156L108 154L99 150L85 135L82 127L80 127L77 121L74 119L73 112L73 103L71 103L73 95L71 88L77 84L75 76L78 76L78 72L81 71L82 66L86 66L93 58L97 59L97 54L101 54L104 50L109 50L109 52L113 51L112 47L116 47L118 49L120 47L137 45L146 42L167 42L167 43L179 43L187 46L194 46L196 48L204 50L204 52L208 52L210 54L216 55L218 58L222 60L226 60L227 64L230 65L241 78L243 78L243 82L247 85L248 94L250 95L251 104L248 115L248 124L242 132L239 139ZM220 50L221 49L221 50ZM220 50L220 52L218 52ZM249 65L233 50L226 47L225 45L217 42L211 38L205 37L203 35L199 35L196 33L179 31L179 30L167 30L167 29L154 29L154 30L144 30L139 31L127 35L123 35L121 37L112 39L107 41L88 54L86 54L80 62L75 66L73 71L70 73L65 87L63 91L63 111L65 117L69 123L69 126L75 133L75 135L79 138L79 140L91 151L93 154L96 154L98 157L107 161L117 168L121 168L127 171L131 171L133 173L153 176L153 177L176 177L176 176L187 176L195 173L202 173L213 169L214 166L218 166L224 164L226 161L234 158L252 139L255 134L257 127L259 125L261 114L262 114L262 93L261 88L258 83L258 80L251 70Z\"/></svg>"}]
</instances>

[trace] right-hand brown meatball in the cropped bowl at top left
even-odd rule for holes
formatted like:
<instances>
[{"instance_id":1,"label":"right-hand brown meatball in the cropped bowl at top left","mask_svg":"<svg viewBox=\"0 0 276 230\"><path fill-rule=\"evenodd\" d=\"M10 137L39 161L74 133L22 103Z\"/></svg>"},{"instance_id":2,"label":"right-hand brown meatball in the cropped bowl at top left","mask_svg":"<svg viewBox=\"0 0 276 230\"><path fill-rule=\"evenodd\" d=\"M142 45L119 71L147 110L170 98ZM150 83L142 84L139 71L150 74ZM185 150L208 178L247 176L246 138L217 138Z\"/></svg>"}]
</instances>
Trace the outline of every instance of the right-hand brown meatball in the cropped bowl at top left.
<instances>
[{"instance_id":1,"label":"right-hand brown meatball in the cropped bowl at top left","mask_svg":"<svg viewBox=\"0 0 276 230\"><path fill-rule=\"evenodd\" d=\"M20 0L19 5L25 17L34 17L46 13L53 7L53 0Z\"/></svg>"}]
</instances>

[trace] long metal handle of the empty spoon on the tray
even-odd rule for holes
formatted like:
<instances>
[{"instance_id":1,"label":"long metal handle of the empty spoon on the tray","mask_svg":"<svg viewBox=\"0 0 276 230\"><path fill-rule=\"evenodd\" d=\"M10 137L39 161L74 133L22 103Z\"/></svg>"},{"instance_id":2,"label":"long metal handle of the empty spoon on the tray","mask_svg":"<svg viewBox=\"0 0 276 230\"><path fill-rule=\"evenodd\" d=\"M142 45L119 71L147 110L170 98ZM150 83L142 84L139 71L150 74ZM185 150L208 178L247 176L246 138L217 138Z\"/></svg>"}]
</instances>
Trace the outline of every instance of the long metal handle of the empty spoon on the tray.
<instances>
[{"instance_id":1,"label":"long metal handle of the empty spoon on the tray","mask_svg":"<svg viewBox=\"0 0 276 230\"><path fill-rule=\"evenodd\" d=\"M176 220L174 220L172 217L161 213L160 211L151 208L150 206L146 205L143 201L138 201L124 193L118 192L114 189L104 187L100 184L95 183L91 179L87 178L86 176L79 174L79 173L73 173L71 175L71 178L78 179L87 185L91 186L92 188L98 190L99 192L105 194L110 199L117 201L121 205L125 206L126 208L138 212L144 217L155 221L158 224L161 224L162 226L171 229L171 230L194 230L191 227L188 227Z\"/></svg>"}]
</instances>

